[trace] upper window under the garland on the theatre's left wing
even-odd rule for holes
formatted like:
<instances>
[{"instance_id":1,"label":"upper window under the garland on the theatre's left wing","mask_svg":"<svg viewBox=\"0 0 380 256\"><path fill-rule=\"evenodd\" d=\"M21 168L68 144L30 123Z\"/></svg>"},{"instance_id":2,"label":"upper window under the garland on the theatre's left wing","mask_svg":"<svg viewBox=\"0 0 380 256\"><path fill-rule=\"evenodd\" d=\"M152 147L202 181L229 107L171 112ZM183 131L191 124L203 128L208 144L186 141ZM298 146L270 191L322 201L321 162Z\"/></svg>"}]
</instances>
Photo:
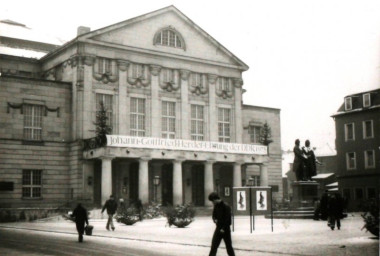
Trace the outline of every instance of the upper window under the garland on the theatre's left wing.
<instances>
[{"instance_id":1,"label":"upper window under the garland on the theatre's left wing","mask_svg":"<svg viewBox=\"0 0 380 256\"><path fill-rule=\"evenodd\" d=\"M24 139L42 140L42 105L24 104Z\"/></svg>"}]
</instances>

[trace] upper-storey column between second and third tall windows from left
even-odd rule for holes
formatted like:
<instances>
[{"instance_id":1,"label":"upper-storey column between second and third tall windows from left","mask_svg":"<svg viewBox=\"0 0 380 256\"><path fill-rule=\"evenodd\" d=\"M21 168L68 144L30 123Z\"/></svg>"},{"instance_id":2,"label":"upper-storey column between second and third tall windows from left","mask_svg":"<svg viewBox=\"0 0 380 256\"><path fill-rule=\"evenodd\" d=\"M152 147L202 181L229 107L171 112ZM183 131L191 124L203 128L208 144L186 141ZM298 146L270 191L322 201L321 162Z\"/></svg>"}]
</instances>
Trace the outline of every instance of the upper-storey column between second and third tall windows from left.
<instances>
[{"instance_id":1,"label":"upper-storey column between second and third tall windows from left","mask_svg":"<svg viewBox=\"0 0 380 256\"><path fill-rule=\"evenodd\" d=\"M159 88L159 74L161 67L157 65L150 66L151 73L151 136L156 138L161 138L161 113L160 113L160 100L158 97L158 88Z\"/></svg>"}]
</instances>

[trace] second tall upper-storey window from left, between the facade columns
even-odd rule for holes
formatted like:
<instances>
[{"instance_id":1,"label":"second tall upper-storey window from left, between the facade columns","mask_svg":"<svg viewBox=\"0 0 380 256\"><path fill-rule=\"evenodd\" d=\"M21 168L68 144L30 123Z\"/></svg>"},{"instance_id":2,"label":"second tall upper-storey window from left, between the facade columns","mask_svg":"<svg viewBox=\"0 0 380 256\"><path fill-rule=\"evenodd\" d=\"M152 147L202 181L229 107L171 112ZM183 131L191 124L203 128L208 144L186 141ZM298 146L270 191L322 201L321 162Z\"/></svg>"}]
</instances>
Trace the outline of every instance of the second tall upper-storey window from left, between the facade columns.
<instances>
[{"instance_id":1,"label":"second tall upper-storey window from left, between the facade columns","mask_svg":"<svg viewBox=\"0 0 380 256\"><path fill-rule=\"evenodd\" d=\"M145 99L131 98L131 136L145 136Z\"/></svg>"}]
</instances>

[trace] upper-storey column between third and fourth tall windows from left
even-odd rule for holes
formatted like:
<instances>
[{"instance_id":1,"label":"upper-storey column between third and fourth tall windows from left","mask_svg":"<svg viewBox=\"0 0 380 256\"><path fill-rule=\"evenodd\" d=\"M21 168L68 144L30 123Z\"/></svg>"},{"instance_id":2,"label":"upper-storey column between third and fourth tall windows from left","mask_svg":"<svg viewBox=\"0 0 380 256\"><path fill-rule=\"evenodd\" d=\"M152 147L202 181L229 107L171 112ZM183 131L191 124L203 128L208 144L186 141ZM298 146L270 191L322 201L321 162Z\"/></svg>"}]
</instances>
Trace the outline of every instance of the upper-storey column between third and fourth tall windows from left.
<instances>
[{"instance_id":1,"label":"upper-storey column between third and fourth tall windows from left","mask_svg":"<svg viewBox=\"0 0 380 256\"><path fill-rule=\"evenodd\" d=\"M190 140L190 105L189 105L189 74L190 71L181 69L181 138Z\"/></svg>"}]
</instances>

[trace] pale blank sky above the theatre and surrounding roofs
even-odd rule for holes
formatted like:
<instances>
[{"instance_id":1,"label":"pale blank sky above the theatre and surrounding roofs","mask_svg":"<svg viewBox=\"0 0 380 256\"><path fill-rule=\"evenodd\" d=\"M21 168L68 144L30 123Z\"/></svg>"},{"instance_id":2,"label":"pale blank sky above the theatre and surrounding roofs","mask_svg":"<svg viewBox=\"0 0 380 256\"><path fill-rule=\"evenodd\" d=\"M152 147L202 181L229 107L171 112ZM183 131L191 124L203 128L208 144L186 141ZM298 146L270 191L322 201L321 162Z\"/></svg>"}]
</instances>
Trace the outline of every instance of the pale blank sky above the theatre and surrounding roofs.
<instances>
[{"instance_id":1,"label":"pale blank sky above the theatre and surrounding roofs","mask_svg":"<svg viewBox=\"0 0 380 256\"><path fill-rule=\"evenodd\" d=\"M64 40L174 5L250 68L244 104L281 109L281 146L335 148L346 95L380 88L378 0L3 1L10 19ZM0 31L1 33L1 31Z\"/></svg>"}]
</instances>

